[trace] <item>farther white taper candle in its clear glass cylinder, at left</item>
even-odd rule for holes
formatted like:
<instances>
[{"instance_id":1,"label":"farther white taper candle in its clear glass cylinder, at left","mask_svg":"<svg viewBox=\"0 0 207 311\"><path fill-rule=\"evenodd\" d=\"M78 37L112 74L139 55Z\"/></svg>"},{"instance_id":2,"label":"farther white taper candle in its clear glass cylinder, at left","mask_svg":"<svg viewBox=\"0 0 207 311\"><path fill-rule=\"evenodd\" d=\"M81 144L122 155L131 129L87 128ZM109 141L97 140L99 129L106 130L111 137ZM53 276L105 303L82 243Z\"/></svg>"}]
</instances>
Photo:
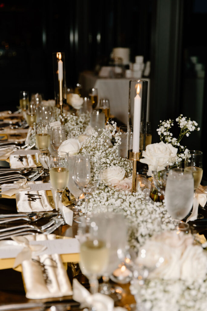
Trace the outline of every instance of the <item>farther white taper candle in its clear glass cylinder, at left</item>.
<instances>
[{"instance_id":1,"label":"farther white taper candle in its clear glass cylinder, at left","mask_svg":"<svg viewBox=\"0 0 207 311\"><path fill-rule=\"evenodd\" d=\"M61 108L66 104L66 82L65 82L65 53L52 53L54 91L56 105Z\"/></svg>"}]
</instances>

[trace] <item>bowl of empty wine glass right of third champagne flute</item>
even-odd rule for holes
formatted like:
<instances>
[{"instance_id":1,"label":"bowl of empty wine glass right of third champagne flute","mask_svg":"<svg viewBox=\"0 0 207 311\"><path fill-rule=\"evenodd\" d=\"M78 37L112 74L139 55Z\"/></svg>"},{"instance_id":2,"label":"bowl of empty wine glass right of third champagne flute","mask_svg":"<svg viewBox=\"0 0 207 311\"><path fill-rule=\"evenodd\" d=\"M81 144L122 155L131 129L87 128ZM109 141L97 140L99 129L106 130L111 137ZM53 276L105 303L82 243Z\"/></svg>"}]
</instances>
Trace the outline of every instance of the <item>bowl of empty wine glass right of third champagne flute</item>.
<instances>
[{"instance_id":1,"label":"bowl of empty wine glass right of third champagne flute","mask_svg":"<svg viewBox=\"0 0 207 311\"><path fill-rule=\"evenodd\" d=\"M53 125L50 129L51 146L58 150L61 143L70 138L70 129L65 125Z\"/></svg>"}]
</instances>

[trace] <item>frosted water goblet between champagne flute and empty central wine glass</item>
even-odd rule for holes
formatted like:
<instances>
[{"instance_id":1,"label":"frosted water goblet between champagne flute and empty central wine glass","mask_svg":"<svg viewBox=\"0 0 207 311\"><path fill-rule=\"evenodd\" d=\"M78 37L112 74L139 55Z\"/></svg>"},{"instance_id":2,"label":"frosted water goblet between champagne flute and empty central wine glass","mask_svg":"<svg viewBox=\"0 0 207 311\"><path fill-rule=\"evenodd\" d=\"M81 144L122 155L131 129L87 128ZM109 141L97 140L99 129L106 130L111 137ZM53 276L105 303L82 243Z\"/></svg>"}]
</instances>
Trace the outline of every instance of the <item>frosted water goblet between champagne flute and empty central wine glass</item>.
<instances>
[{"instance_id":1,"label":"frosted water goblet between champagne flute and empty central wine glass","mask_svg":"<svg viewBox=\"0 0 207 311\"><path fill-rule=\"evenodd\" d=\"M68 152L67 163L68 163L68 170L69 170L69 179L68 179L67 187L70 193L73 194L75 198L75 202L76 202L76 204L72 208L70 207L70 209L72 209L74 214L79 214L80 209L77 204L79 201L79 197L82 194L82 191L79 189L79 187L76 185L76 183L73 180L73 170L74 170L75 161L76 161L76 156L73 155L73 151ZM76 221L76 216L74 216L73 220Z\"/></svg>"}]
</instances>

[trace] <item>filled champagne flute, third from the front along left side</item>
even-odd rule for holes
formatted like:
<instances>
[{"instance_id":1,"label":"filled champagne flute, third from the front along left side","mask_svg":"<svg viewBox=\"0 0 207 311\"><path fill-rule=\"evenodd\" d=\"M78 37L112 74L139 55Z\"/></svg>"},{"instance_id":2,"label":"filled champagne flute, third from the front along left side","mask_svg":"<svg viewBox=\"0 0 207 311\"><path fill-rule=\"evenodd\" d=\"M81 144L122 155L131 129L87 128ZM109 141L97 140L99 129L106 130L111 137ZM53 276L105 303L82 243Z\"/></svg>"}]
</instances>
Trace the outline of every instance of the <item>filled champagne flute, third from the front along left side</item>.
<instances>
[{"instance_id":1,"label":"filled champagne flute, third from the front along left side","mask_svg":"<svg viewBox=\"0 0 207 311\"><path fill-rule=\"evenodd\" d=\"M45 162L46 153L48 152L48 148L50 145L49 123L38 122L36 124L35 138L37 148L41 152L43 162ZM48 176L48 171L44 168L44 165L42 165L41 171L43 172L42 176Z\"/></svg>"}]
</instances>

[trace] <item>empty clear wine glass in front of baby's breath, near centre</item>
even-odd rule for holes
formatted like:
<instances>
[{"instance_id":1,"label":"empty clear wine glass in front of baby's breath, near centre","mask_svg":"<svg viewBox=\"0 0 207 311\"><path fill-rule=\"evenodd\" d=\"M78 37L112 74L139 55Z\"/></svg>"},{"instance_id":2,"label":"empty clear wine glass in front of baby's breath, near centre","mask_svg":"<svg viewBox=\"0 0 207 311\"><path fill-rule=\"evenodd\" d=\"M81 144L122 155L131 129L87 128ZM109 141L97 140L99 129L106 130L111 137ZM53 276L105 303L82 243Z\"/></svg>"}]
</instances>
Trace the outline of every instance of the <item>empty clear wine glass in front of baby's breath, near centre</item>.
<instances>
[{"instance_id":1,"label":"empty clear wine glass in front of baby's breath, near centre","mask_svg":"<svg viewBox=\"0 0 207 311\"><path fill-rule=\"evenodd\" d=\"M77 155L73 170L73 180L85 196L85 214L84 216L77 215L75 221L80 222L81 218L84 217L87 222L90 222L87 203L89 193L95 191L101 181L99 156Z\"/></svg>"}]
</instances>

